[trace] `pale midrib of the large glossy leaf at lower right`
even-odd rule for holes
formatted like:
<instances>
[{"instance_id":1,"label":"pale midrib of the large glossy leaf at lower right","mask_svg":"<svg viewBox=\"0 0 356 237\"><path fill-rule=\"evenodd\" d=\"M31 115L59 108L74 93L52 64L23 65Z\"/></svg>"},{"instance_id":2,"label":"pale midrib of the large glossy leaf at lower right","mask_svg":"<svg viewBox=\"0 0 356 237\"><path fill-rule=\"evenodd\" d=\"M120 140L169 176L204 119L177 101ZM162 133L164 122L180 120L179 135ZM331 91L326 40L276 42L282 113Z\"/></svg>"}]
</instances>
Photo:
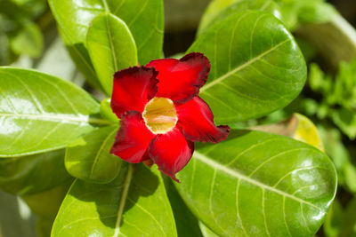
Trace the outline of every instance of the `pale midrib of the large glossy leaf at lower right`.
<instances>
[{"instance_id":1,"label":"pale midrib of the large glossy leaf at lower right","mask_svg":"<svg viewBox=\"0 0 356 237\"><path fill-rule=\"evenodd\" d=\"M294 195L292 194L287 194L286 192L282 191L282 190L279 190L278 188L275 188L275 187L272 187L272 186L267 186L263 183L261 183L260 181L257 181L253 178L249 178L241 173L239 173L237 170L232 170L230 168L227 168L225 166L223 166L221 163L219 162L215 162L213 159L207 157L206 155L204 154L200 154L198 153L197 151L194 152L194 157L196 159L198 159L200 162L204 162L206 163L206 165L208 166L211 166L212 168L216 169L216 170L221 170L223 171L224 173L227 173L227 174L230 174L231 176L235 177L235 178L239 178L241 180L244 180L246 181L247 183L253 185L253 186L259 186L261 187L263 190L266 189L266 190L269 190L271 191L272 193L275 193L275 194L279 194L279 195L282 195L284 197L287 197L287 198L290 198L290 199L293 199L295 201L298 201L298 202L301 202L301 203L304 203L308 206L311 206L315 209L319 209L320 211L322 211L322 209L320 209L320 207L312 204L311 202L309 201L304 201L303 199L300 199L298 197L295 197Z\"/></svg>"}]
</instances>

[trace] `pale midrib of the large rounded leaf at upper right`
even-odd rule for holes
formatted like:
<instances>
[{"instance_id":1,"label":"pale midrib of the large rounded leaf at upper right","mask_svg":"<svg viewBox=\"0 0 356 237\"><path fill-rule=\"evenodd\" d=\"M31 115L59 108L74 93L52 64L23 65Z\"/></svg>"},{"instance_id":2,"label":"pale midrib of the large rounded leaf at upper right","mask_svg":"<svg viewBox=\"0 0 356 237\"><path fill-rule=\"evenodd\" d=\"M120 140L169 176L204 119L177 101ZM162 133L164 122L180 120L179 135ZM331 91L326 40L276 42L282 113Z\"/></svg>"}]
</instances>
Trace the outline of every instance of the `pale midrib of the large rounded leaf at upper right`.
<instances>
[{"instance_id":1,"label":"pale midrib of the large rounded leaf at upper right","mask_svg":"<svg viewBox=\"0 0 356 237\"><path fill-rule=\"evenodd\" d=\"M263 53L257 55L254 59L249 59L246 63L244 63L244 64L240 65L239 67L236 67L235 69L231 70L230 72L218 77L213 82L206 83L206 85L203 86L200 89L200 92L206 91L207 89L209 89L210 87L214 86L215 84L222 82L224 79L228 78L231 75L234 75L235 73L239 72L239 70L242 70L243 68L248 67L249 65L253 64L258 59L262 59L264 56L269 54L271 51L274 51L274 50L278 49L279 46L281 46L282 44L287 43L289 41L291 41L291 39L287 38L287 40L284 40L284 41L276 44L275 46L271 47L271 49L269 49L267 51L263 51Z\"/></svg>"}]
</instances>

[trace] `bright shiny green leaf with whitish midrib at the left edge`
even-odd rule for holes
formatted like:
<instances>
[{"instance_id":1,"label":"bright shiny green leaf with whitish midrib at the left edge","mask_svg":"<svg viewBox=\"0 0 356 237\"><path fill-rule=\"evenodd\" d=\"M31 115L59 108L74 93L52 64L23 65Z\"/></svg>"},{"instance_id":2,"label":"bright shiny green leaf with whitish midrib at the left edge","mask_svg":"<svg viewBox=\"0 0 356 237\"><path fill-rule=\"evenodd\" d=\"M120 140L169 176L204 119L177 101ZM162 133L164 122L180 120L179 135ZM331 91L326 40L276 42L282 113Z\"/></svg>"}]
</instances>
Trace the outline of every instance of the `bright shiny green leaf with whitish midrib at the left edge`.
<instances>
[{"instance_id":1,"label":"bright shiny green leaf with whitish midrib at the left edge","mask_svg":"<svg viewBox=\"0 0 356 237\"><path fill-rule=\"evenodd\" d=\"M0 68L0 157L43 153L67 146L93 125L99 104L76 85L51 75Z\"/></svg>"}]
</instances>

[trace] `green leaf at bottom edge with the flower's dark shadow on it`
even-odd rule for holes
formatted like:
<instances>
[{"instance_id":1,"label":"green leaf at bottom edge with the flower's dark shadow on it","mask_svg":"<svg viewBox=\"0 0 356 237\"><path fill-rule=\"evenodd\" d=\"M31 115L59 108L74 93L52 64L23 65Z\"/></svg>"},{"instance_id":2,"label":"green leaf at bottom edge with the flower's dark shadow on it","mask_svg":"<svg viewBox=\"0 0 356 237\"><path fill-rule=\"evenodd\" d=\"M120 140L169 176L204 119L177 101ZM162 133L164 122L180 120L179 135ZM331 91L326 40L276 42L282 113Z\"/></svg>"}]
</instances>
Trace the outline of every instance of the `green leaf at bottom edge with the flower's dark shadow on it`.
<instances>
[{"instance_id":1,"label":"green leaf at bottom edge with the flower's dark shadow on it","mask_svg":"<svg viewBox=\"0 0 356 237\"><path fill-rule=\"evenodd\" d=\"M163 180L157 169L151 170L123 163L118 177L107 185L77 179L61 205L52 235L176 236Z\"/></svg>"}]
</instances>

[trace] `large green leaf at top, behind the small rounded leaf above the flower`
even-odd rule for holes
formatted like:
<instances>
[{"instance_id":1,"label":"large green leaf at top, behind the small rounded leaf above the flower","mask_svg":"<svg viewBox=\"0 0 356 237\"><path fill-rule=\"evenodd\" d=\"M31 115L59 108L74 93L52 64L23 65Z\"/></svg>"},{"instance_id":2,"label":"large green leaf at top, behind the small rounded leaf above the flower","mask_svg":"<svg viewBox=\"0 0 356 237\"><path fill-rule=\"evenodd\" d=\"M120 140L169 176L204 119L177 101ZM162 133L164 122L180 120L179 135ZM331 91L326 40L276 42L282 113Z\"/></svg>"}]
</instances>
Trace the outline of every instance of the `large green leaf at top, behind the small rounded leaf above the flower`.
<instances>
[{"instance_id":1,"label":"large green leaf at top, behind the small rounded leaf above the flower","mask_svg":"<svg viewBox=\"0 0 356 237\"><path fill-rule=\"evenodd\" d=\"M61 35L82 71L95 75L85 49L85 37L93 19L101 12L112 13L125 21L134 36L141 65L162 55L162 0L49 0L49 4Z\"/></svg>"}]
</instances>

